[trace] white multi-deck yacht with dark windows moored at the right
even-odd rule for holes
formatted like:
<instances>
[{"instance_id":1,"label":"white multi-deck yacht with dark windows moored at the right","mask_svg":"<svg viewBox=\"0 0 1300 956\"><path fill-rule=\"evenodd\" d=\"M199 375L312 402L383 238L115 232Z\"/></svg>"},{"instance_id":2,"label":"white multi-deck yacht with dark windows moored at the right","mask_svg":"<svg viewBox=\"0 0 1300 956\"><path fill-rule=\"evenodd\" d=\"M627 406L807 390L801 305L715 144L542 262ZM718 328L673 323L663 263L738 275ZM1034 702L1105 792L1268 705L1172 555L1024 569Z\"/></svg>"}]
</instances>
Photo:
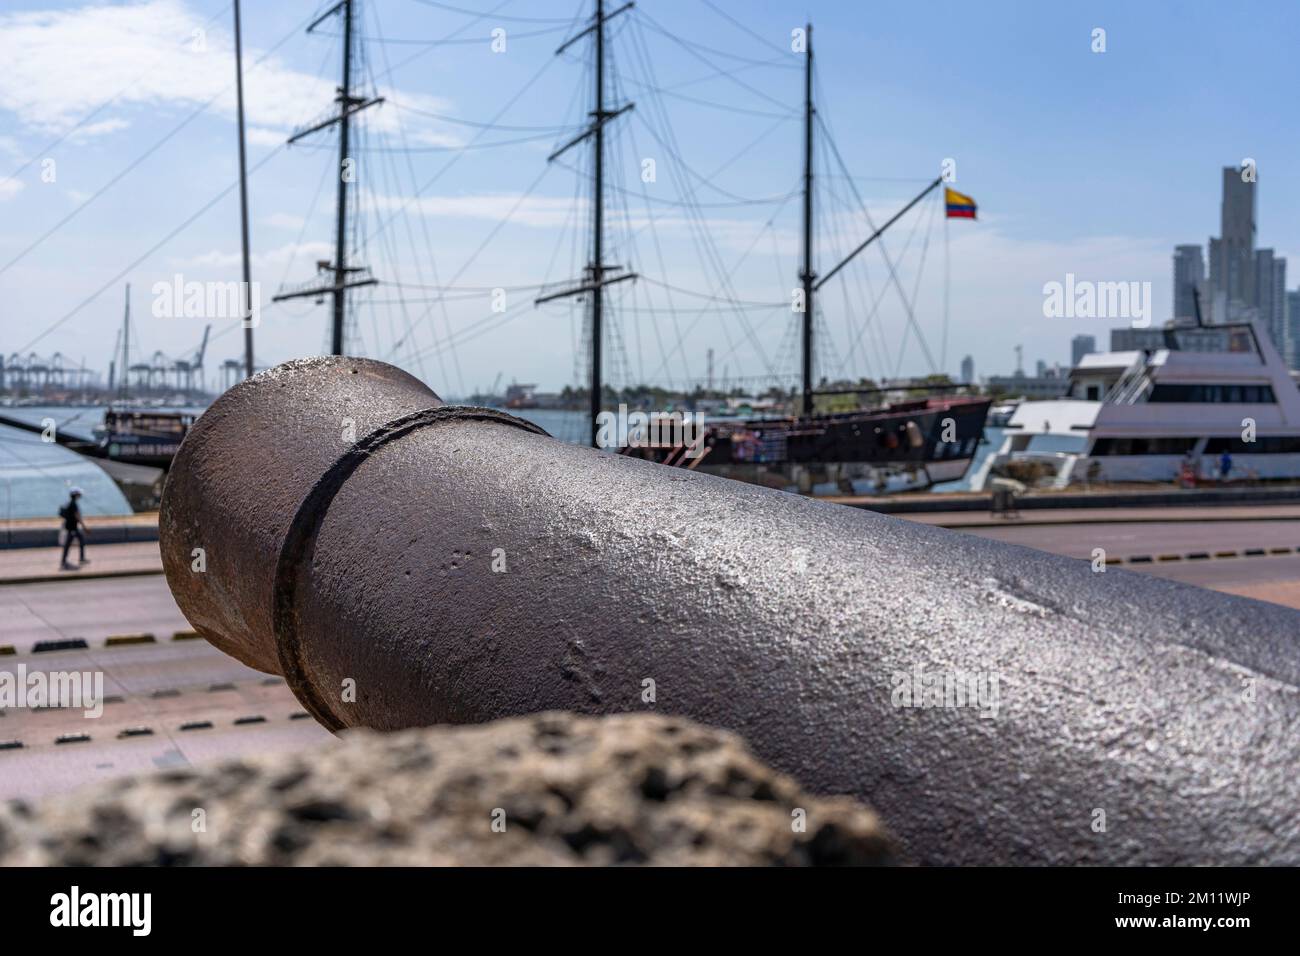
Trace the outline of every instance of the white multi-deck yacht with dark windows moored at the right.
<instances>
[{"instance_id":1,"label":"white multi-deck yacht with dark windows moored at the right","mask_svg":"<svg viewBox=\"0 0 1300 956\"><path fill-rule=\"evenodd\" d=\"M1262 328L1152 334L1160 347L1084 355L1065 398L1022 402L971 488L1300 479L1300 389Z\"/></svg>"}]
</instances>

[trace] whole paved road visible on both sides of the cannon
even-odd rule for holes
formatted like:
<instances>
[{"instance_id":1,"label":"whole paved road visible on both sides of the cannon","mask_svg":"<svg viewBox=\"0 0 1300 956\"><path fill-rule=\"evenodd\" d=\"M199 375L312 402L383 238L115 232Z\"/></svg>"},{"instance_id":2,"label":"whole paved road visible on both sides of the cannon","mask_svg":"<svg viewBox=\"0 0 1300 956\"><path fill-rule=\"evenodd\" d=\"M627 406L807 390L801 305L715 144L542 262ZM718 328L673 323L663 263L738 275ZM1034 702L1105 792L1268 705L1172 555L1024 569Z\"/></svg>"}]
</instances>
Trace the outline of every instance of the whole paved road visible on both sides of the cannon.
<instances>
[{"instance_id":1,"label":"whole paved road visible on both sides of the cannon","mask_svg":"<svg viewBox=\"0 0 1300 956\"><path fill-rule=\"evenodd\" d=\"M944 523L941 515L916 518ZM1092 559L1101 548L1124 570L1300 607L1300 522L1294 518L1097 518L1050 523L1037 515L989 524L987 516L965 515L953 524L965 524L956 528L962 533L1074 558ZM186 640L190 626L166 580L151 574L156 544L96 549L95 566L131 576L29 581L51 557L57 563L57 553L46 550L10 553L0 564L0 580L8 572L20 581L0 584L0 671L16 672L21 663L29 671L101 672L108 702L98 718L81 710L0 711L0 799L235 754L298 750L329 739L282 680L205 641ZM121 644L122 637L147 643ZM51 641L84 646L43 650Z\"/></svg>"}]
</instances>

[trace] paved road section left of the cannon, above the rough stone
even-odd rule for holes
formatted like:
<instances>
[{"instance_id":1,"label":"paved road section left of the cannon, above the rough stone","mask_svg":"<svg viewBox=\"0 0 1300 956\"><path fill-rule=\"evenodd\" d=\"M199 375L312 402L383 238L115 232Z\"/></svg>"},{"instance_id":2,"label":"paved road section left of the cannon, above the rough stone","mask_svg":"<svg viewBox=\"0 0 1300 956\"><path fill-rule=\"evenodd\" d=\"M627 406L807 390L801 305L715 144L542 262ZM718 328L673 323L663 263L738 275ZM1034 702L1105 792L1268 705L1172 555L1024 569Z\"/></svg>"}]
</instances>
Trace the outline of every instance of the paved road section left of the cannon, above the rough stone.
<instances>
[{"instance_id":1,"label":"paved road section left of the cannon, above the rough stone","mask_svg":"<svg viewBox=\"0 0 1300 956\"><path fill-rule=\"evenodd\" d=\"M0 585L0 671L103 674L100 717L81 709L0 710L0 799L96 779L325 741L280 678L244 667L188 632L162 575ZM150 635L153 643L107 644ZM42 641L84 641L38 650ZM47 645L48 646L48 645ZM56 645L57 646L57 645Z\"/></svg>"}]
</instances>

